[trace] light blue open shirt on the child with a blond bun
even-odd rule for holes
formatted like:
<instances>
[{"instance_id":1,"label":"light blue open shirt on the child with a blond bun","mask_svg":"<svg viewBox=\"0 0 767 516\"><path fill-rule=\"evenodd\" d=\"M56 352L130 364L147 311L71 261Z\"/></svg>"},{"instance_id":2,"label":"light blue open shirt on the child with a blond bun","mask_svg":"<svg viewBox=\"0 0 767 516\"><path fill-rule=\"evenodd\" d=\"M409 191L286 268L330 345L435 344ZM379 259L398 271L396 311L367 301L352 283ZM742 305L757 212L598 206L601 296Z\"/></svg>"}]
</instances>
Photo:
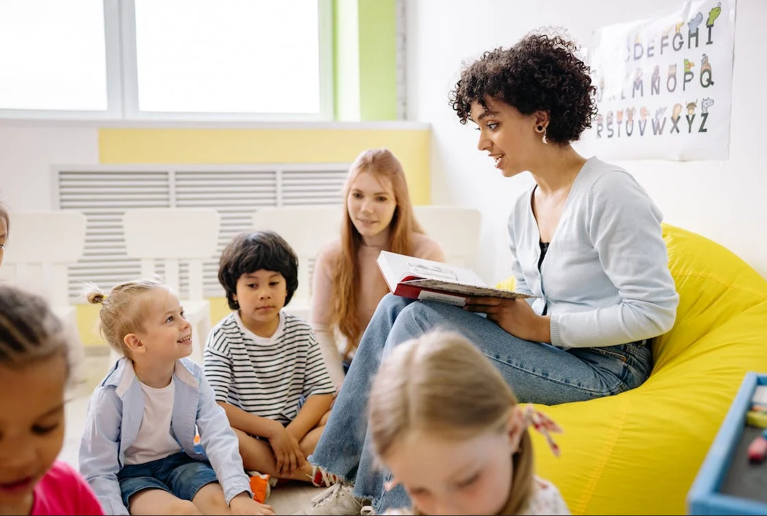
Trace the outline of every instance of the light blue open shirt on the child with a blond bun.
<instances>
[{"instance_id":1,"label":"light blue open shirt on the child with a blond bun","mask_svg":"<svg viewBox=\"0 0 767 516\"><path fill-rule=\"evenodd\" d=\"M170 425L176 441L190 457L210 461L226 503L242 491L252 496L237 437L224 409L216 403L202 367L189 359L178 360L173 382L176 396ZM125 465L125 451L136 441L143 411L143 392L133 362L123 357L91 395L80 445L80 471L96 493L104 514L129 514L120 496L117 473Z\"/></svg>"}]
</instances>

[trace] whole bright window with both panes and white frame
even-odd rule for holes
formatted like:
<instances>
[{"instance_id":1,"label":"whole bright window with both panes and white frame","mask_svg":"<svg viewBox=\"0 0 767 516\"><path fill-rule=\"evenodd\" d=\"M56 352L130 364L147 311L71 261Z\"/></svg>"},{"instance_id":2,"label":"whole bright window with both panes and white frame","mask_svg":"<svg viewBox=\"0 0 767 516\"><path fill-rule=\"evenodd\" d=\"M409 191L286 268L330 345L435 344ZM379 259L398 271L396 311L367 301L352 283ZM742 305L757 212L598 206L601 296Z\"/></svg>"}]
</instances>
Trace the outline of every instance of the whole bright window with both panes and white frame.
<instances>
[{"instance_id":1,"label":"whole bright window with both panes and white frame","mask_svg":"<svg viewBox=\"0 0 767 516\"><path fill-rule=\"evenodd\" d=\"M0 0L0 117L331 120L332 0Z\"/></svg>"}]
</instances>

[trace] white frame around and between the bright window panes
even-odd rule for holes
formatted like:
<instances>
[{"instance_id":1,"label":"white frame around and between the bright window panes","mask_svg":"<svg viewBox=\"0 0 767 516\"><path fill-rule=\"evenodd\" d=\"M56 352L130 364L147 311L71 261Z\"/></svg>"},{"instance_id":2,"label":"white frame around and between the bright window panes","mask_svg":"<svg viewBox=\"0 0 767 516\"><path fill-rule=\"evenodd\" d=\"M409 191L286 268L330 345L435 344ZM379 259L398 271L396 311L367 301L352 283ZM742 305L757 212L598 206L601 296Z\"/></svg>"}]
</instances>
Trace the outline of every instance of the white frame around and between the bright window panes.
<instances>
[{"instance_id":1,"label":"white frame around and between the bright window panes","mask_svg":"<svg viewBox=\"0 0 767 516\"><path fill-rule=\"evenodd\" d=\"M318 114L140 111L136 57L136 4L134 0L103 0L107 109L105 111L0 109L0 120L333 121L333 6L332 0L316 1L318 2L320 37L320 112Z\"/></svg>"}]
</instances>

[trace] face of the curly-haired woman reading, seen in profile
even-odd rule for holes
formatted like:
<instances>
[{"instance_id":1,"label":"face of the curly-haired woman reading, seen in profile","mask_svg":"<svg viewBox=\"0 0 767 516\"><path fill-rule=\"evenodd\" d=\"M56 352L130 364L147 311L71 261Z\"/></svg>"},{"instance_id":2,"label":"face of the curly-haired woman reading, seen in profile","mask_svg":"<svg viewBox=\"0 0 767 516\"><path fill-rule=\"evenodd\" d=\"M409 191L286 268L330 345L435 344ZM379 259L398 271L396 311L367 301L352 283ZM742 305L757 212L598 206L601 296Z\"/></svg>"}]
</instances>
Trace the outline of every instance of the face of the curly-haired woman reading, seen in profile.
<instances>
[{"instance_id":1,"label":"face of the curly-haired woman reading, seen in profile","mask_svg":"<svg viewBox=\"0 0 767 516\"><path fill-rule=\"evenodd\" d=\"M502 101L487 99L487 108L472 102L472 121L479 130L477 148L487 151L505 177L530 170L541 150L542 133L535 132L535 115L523 115Z\"/></svg>"}]
</instances>

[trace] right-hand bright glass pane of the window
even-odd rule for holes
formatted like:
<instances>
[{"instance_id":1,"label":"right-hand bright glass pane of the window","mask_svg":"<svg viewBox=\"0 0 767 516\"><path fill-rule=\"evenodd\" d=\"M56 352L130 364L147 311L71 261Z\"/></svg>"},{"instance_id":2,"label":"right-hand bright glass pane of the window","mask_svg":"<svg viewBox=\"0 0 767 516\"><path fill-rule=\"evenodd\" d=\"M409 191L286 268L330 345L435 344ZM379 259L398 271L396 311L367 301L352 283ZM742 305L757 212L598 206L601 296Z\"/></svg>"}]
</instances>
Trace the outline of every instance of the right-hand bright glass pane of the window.
<instances>
[{"instance_id":1,"label":"right-hand bright glass pane of the window","mask_svg":"<svg viewBox=\"0 0 767 516\"><path fill-rule=\"evenodd\" d=\"M135 0L135 8L138 111L320 113L318 2Z\"/></svg>"}]
</instances>

